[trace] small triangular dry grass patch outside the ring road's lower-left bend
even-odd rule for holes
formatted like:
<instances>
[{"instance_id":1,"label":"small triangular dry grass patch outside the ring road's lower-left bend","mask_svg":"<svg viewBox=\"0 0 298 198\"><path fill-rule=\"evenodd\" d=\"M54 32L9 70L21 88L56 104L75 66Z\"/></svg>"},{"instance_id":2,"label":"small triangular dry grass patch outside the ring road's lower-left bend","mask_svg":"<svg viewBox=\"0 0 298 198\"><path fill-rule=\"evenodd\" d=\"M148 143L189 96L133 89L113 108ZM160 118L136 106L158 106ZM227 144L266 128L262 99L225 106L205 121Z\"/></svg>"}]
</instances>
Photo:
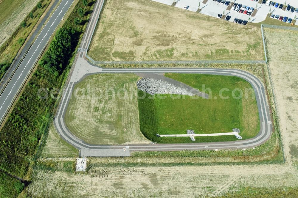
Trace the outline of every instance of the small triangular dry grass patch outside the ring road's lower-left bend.
<instances>
[{"instance_id":1,"label":"small triangular dry grass patch outside the ring road's lower-left bend","mask_svg":"<svg viewBox=\"0 0 298 198\"><path fill-rule=\"evenodd\" d=\"M42 157L76 157L78 150L65 142L57 133L55 127L51 125L49 135L46 139L46 145L42 150Z\"/></svg>"}]
</instances>

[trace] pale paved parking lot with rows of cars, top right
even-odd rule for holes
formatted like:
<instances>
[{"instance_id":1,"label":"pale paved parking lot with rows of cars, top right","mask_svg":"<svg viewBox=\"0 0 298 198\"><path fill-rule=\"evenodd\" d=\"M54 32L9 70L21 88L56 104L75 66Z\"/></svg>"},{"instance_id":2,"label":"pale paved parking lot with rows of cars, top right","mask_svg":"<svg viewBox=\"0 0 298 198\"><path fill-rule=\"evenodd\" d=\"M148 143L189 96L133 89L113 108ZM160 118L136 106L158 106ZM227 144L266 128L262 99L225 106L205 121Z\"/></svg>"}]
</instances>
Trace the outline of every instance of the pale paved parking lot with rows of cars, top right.
<instances>
[{"instance_id":1,"label":"pale paved parking lot with rows of cars, top right","mask_svg":"<svg viewBox=\"0 0 298 198\"><path fill-rule=\"evenodd\" d=\"M173 0L153 0L153 1L157 1L167 5L171 5L174 2ZM213 0L208 0L206 4L203 4L203 1L204 0L179 0L176 4L176 7L184 9L185 6L189 6L187 8L187 11L196 12L200 5L200 9L201 9L200 13L213 16L213 17L217 17L218 14L229 15L231 16L231 19L229 20L230 22L233 22L235 18L238 18L238 19L250 21L253 23L259 23L266 19L266 16L268 15L269 12L274 14L274 16L275 15L279 15L283 17L286 16L288 18L292 18L293 20L298 18L297 12L290 12L284 9L281 10L279 8L275 8L274 6L266 6L266 4L259 4L256 1L252 1L252 0L236 0L235 3L246 5L247 7L252 7L254 9L257 8L257 12L255 16L252 16L252 15L249 16L243 13L226 10L228 6L221 3L217 3L216 1L213 1ZM284 4L284 7L286 5L291 5L292 7L298 8L297 0L287 0L286 5L285 5L285 0L274 0L274 2L278 4ZM298 21L296 21L295 25L298 25Z\"/></svg>"}]
</instances>

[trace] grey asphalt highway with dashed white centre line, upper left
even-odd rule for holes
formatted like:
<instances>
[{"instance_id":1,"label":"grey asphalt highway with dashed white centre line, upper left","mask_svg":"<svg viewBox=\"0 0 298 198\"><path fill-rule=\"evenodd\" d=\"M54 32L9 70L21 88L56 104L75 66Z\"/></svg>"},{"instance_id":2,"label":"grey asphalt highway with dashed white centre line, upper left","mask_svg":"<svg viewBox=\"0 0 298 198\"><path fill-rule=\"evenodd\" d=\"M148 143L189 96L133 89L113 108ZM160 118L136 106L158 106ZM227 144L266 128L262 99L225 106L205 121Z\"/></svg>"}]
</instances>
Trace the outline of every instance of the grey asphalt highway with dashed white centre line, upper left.
<instances>
[{"instance_id":1,"label":"grey asphalt highway with dashed white centre line, upper left","mask_svg":"<svg viewBox=\"0 0 298 198\"><path fill-rule=\"evenodd\" d=\"M54 33L73 1L74 0L61 1L0 95L0 123L6 116L7 111L9 111L15 96L18 94L24 81L26 81L38 57L49 42L49 38Z\"/></svg>"}]
</instances>

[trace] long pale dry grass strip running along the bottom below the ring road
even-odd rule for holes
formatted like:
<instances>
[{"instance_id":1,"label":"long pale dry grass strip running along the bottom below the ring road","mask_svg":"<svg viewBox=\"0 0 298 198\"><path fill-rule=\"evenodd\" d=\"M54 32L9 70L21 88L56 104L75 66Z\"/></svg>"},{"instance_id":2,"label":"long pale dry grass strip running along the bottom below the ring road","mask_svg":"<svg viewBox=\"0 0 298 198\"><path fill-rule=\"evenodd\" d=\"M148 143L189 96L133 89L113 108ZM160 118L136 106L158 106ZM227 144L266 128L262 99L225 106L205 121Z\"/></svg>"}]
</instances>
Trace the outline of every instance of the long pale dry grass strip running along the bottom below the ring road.
<instances>
[{"instance_id":1,"label":"long pale dry grass strip running along the bottom below the ring road","mask_svg":"<svg viewBox=\"0 0 298 198\"><path fill-rule=\"evenodd\" d=\"M297 186L284 165L98 167L87 175L35 170L30 197L209 197L245 187Z\"/></svg>"}]
</instances>

